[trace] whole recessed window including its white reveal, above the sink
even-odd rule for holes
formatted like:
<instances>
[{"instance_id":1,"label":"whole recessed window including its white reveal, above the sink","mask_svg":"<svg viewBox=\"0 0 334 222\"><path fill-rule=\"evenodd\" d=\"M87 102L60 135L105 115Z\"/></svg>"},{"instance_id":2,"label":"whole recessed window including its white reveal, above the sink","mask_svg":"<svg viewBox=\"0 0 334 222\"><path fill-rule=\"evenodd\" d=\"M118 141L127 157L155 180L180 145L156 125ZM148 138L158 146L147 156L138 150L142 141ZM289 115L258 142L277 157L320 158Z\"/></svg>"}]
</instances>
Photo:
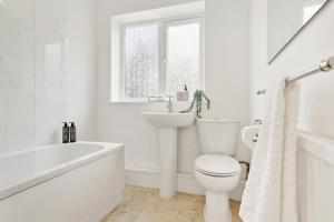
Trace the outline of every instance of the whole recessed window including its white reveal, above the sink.
<instances>
[{"instance_id":1,"label":"whole recessed window including its white reveal, above the sink","mask_svg":"<svg viewBox=\"0 0 334 222\"><path fill-rule=\"evenodd\" d=\"M203 89L205 1L111 17L111 102Z\"/></svg>"}]
</instances>

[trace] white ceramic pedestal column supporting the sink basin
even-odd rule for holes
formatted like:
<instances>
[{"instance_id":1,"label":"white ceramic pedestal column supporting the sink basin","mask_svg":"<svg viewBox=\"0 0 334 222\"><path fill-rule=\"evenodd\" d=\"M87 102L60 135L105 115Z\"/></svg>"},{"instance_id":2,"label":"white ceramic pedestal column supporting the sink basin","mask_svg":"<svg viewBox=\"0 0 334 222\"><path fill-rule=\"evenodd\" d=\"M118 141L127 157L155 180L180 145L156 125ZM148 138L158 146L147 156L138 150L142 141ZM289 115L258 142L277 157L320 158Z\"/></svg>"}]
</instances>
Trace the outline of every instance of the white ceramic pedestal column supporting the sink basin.
<instances>
[{"instance_id":1,"label":"white ceramic pedestal column supporting the sink basin","mask_svg":"<svg viewBox=\"0 0 334 222\"><path fill-rule=\"evenodd\" d=\"M177 128L159 128L159 193L173 198L177 191Z\"/></svg>"}]
</instances>

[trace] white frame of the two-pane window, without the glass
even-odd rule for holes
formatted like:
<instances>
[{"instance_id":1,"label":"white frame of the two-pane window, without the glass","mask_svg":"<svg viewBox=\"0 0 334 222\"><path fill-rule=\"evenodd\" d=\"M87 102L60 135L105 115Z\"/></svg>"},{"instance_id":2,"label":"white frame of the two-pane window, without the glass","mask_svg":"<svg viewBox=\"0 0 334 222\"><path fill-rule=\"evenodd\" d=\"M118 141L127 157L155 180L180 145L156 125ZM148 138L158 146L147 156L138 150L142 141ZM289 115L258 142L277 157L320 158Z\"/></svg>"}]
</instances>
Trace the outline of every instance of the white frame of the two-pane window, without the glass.
<instances>
[{"instance_id":1,"label":"white frame of the two-pane window, without the glass","mask_svg":"<svg viewBox=\"0 0 334 222\"><path fill-rule=\"evenodd\" d=\"M125 97L125 32L127 28L136 28L149 24L158 26L159 44L158 44L158 70L159 70L159 93L166 93L166 61L167 61L167 29L173 26L199 24L199 89L204 89L204 13L187 14L184 17L174 17L168 19L156 19L147 21L136 21L120 24L119 34L119 102L147 102L147 97L144 98L127 98Z\"/></svg>"}]
</instances>

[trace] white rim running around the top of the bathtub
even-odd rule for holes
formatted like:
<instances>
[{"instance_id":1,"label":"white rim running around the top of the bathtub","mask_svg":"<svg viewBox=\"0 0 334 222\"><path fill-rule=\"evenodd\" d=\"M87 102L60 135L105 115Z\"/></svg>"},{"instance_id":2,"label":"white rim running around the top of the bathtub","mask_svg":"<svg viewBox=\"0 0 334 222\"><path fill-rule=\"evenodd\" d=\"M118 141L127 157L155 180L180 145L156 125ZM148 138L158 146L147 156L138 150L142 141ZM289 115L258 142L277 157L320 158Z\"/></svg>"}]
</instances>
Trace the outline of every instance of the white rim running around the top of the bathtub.
<instances>
[{"instance_id":1,"label":"white rim running around the top of the bathtub","mask_svg":"<svg viewBox=\"0 0 334 222\"><path fill-rule=\"evenodd\" d=\"M96 152L86 154L81 158L73 159L69 162L59 164L57 167L50 168L46 171L42 171L41 173L39 173L35 178L29 178L27 180L18 181L18 184L9 185L9 186L6 186L6 188L1 189L0 190L0 201L6 200L6 199L8 199L12 195L16 195L18 193L21 193L21 192L28 190L30 188L33 188L36 185L39 185L39 184L45 183L47 181L50 181L50 180L52 180L57 176L66 174L66 173L72 171L72 170L76 170L80 167L84 167L86 164L89 164L94 161L97 161L99 159L102 159L107 155L110 155L112 153L119 152L119 151L125 149L125 145L122 143L78 141L76 143L66 143L66 144L60 143L60 144L38 147L33 151L21 151L21 152L16 152L16 153L12 153L12 154L2 155L0 158L0 160L2 158L4 159L4 158L19 155L19 154L26 154L26 153L36 152L36 151L42 151L42 150L47 150L47 149L50 149L50 148L61 148L61 147L63 147L65 149L67 149L66 147L71 145L71 144L94 144L94 145L102 147L102 149L100 149Z\"/></svg>"}]
</instances>

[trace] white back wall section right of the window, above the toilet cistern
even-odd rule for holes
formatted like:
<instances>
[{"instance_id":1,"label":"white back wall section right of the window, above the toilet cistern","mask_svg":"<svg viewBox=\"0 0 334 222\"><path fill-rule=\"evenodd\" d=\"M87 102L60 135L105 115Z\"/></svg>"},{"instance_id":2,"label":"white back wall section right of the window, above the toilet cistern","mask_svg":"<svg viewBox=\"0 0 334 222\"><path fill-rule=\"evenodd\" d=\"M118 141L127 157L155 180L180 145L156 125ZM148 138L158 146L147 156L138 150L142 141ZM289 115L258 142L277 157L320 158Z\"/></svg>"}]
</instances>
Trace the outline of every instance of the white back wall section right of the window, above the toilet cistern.
<instances>
[{"instance_id":1,"label":"white back wall section right of the window, above the toilet cistern","mask_svg":"<svg viewBox=\"0 0 334 222\"><path fill-rule=\"evenodd\" d=\"M248 125L248 1L207 0L205 26L205 84L213 100L208 114L235 117L240 128ZM240 140L237 158L249 158Z\"/></svg>"}]
</instances>

